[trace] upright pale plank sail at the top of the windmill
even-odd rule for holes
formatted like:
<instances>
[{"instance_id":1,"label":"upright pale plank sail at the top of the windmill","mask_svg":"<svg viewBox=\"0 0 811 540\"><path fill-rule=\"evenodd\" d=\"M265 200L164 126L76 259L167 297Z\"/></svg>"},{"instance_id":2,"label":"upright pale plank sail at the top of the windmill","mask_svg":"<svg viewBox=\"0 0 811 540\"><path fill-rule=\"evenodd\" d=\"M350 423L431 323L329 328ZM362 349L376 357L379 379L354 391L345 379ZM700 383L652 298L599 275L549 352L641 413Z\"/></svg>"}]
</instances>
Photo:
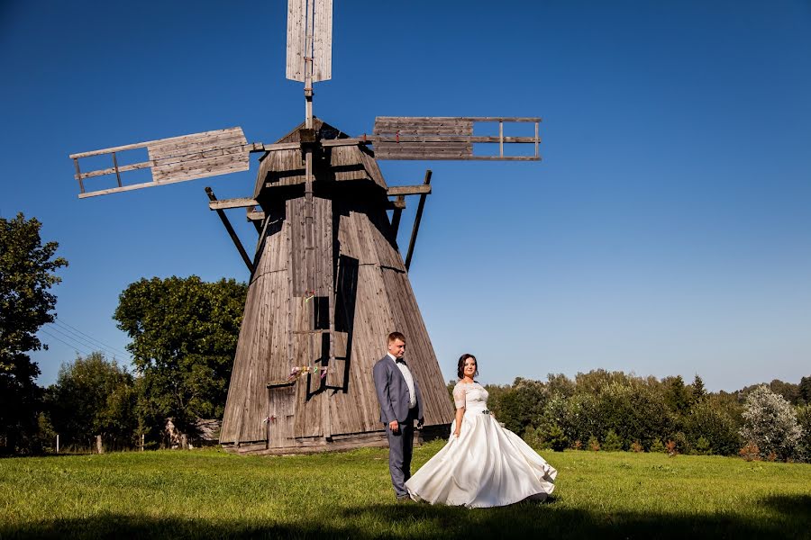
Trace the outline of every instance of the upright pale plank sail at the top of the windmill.
<instances>
[{"instance_id":1,"label":"upright pale plank sail at the top of the windmill","mask_svg":"<svg viewBox=\"0 0 811 540\"><path fill-rule=\"evenodd\" d=\"M305 82L312 58L312 81L333 76L333 0L287 0L287 67L285 76Z\"/></svg>"}]
</instances>

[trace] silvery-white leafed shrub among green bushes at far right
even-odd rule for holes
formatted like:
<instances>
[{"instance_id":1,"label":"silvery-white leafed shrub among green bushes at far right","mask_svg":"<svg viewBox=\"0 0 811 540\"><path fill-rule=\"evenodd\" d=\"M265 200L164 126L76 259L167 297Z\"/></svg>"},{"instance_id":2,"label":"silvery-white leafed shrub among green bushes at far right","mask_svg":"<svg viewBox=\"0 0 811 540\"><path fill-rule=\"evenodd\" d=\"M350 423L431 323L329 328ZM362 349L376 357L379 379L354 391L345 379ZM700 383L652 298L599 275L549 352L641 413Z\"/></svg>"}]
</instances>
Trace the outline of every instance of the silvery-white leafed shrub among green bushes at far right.
<instances>
[{"instance_id":1,"label":"silvery-white leafed shrub among green bushes at far right","mask_svg":"<svg viewBox=\"0 0 811 540\"><path fill-rule=\"evenodd\" d=\"M761 384L746 398L741 437L757 445L761 456L770 454L786 459L797 450L802 437L797 413L788 401Z\"/></svg>"}]
</instances>

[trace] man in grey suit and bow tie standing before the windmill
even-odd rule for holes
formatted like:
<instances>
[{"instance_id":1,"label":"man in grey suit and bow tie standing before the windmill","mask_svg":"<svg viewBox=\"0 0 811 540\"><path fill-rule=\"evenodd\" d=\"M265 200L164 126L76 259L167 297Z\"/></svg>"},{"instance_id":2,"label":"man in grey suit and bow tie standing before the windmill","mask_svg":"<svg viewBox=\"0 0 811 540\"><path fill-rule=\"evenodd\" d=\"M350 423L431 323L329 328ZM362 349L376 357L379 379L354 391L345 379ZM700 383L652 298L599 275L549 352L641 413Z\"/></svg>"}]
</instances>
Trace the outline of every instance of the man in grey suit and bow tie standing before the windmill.
<instances>
[{"instance_id":1,"label":"man in grey suit and bow tie standing before the windmill","mask_svg":"<svg viewBox=\"0 0 811 540\"><path fill-rule=\"evenodd\" d=\"M414 451L414 421L423 427L423 399L414 375L405 364L405 336L388 335L388 354L375 364L375 390L380 402L380 421L388 437L388 471L397 500L408 500L405 481L411 478Z\"/></svg>"}]
</instances>

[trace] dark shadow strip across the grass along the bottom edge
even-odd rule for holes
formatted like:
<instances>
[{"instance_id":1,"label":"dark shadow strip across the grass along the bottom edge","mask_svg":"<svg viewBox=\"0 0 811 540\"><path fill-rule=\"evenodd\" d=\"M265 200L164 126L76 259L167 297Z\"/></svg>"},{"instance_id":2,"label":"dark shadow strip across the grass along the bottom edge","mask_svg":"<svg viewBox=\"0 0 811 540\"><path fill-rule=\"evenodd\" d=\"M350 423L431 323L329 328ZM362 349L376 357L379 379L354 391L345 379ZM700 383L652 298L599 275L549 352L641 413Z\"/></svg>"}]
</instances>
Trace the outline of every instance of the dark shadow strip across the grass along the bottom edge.
<instances>
[{"instance_id":1,"label":"dark shadow strip across the grass along the bottom edge","mask_svg":"<svg viewBox=\"0 0 811 540\"><path fill-rule=\"evenodd\" d=\"M194 520L99 514L42 519L23 527L0 525L0 538L808 538L811 496L763 500L770 518L720 514L597 513L562 508L550 500L501 509L464 509L417 503L324 509L319 516L276 520ZM745 509L743 509L745 511Z\"/></svg>"}]
</instances>

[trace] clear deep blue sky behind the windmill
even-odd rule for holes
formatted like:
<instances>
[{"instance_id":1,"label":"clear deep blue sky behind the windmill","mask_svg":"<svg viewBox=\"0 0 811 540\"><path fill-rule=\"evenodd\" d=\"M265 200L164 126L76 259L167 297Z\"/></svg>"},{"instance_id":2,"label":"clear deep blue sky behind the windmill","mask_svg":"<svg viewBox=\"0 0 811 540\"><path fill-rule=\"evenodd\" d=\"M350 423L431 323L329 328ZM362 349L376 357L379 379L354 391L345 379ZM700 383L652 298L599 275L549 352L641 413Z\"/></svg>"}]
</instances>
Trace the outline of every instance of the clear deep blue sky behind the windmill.
<instances>
[{"instance_id":1,"label":"clear deep blue sky behind the windmill","mask_svg":"<svg viewBox=\"0 0 811 540\"><path fill-rule=\"evenodd\" d=\"M52 336L123 350L127 284L248 278L203 188L248 196L255 168L80 201L68 154L284 135L304 119L286 4L0 3L0 215L37 217L70 262ZM485 383L811 374L808 2L338 1L315 90L351 134L376 115L543 117L540 163L382 162L389 184L433 169L411 280L446 379L463 352ZM48 384L76 352L41 338Z\"/></svg>"}]
</instances>

